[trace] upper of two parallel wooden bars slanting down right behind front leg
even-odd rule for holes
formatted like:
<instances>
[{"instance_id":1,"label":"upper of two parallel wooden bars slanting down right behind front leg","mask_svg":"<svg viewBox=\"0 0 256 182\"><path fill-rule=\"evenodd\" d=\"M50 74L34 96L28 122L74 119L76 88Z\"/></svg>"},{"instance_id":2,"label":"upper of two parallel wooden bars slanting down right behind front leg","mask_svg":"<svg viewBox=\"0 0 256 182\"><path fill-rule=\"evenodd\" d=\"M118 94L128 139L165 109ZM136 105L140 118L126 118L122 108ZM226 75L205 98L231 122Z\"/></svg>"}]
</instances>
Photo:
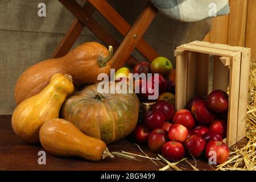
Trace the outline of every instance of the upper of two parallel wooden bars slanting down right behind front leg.
<instances>
[{"instance_id":1,"label":"upper of two parallel wooden bars slanting down right behind front leg","mask_svg":"<svg viewBox=\"0 0 256 182\"><path fill-rule=\"evenodd\" d=\"M126 36L131 26L106 0L86 0L100 12L123 36ZM156 15L158 10L152 5L152 15ZM151 22L151 20L150 20ZM139 39L136 46L139 52L148 60L152 61L158 57L158 53L144 39Z\"/></svg>"}]
</instances>

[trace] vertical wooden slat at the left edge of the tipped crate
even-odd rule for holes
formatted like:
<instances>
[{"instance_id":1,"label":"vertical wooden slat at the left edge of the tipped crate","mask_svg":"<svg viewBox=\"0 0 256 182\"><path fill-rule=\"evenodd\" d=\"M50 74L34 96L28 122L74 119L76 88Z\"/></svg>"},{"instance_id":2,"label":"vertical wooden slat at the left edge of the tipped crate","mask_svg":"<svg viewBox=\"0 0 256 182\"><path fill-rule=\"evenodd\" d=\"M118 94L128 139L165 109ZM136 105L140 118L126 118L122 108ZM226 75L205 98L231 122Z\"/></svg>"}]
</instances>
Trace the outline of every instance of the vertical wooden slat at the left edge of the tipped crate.
<instances>
[{"instance_id":1,"label":"vertical wooden slat at the left edge of the tipped crate","mask_svg":"<svg viewBox=\"0 0 256 182\"><path fill-rule=\"evenodd\" d=\"M187 70L188 70L188 53L178 50L180 53L176 56L176 110L184 109L187 104Z\"/></svg>"}]
</instances>

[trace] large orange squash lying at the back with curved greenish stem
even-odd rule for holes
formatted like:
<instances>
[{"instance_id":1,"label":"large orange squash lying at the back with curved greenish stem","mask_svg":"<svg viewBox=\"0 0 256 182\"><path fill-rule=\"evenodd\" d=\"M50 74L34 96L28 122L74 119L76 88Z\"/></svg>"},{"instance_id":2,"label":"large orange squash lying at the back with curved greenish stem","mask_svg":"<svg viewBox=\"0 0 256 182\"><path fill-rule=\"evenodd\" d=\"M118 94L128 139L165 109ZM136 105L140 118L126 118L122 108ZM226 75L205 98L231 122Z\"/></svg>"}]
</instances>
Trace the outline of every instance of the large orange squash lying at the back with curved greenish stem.
<instances>
[{"instance_id":1,"label":"large orange squash lying at the back with curved greenish stem","mask_svg":"<svg viewBox=\"0 0 256 182\"><path fill-rule=\"evenodd\" d=\"M38 94L56 73L71 75L77 87L97 82L98 74L109 74L112 55L111 46L108 51L100 43L88 42L76 47L64 57L33 65L23 72L16 82L14 90L16 104Z\"/></svg>"}]
</instances>

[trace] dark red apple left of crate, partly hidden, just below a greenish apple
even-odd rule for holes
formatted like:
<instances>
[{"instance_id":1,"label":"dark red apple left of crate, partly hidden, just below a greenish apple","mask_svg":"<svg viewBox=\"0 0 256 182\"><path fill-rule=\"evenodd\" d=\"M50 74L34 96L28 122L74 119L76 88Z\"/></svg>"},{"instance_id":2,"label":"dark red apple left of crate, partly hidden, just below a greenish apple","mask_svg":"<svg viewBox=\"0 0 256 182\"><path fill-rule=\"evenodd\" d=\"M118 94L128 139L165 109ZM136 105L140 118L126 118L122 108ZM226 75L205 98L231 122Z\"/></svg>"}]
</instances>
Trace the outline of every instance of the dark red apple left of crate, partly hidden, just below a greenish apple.
<instances>
[{"instance_id":1,"label":"dark red apple left of crate, partly hidden, just below a greenish apple","mask_svg":"<svg viewBox=\"0 0 256 182\"><path fill-rule=\"evenodd\" d=\"M155 105L152 107L152 110L162 112L166 116L167 120L172 118L175 111L174 106L170 102L163 100L156 101Z\"/></svg>"}]
</instances>

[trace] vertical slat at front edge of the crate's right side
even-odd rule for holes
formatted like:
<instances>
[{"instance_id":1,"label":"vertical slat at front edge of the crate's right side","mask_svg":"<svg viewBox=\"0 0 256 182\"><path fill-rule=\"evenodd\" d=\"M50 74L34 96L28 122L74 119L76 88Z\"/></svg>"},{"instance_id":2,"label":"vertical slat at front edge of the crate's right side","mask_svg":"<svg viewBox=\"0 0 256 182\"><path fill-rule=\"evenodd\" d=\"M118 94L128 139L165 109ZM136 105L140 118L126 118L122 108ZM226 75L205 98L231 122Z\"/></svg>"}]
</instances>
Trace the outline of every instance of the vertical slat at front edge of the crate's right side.
<instances>
[{"instance_id":1,"label":"vertical slat at front edge of the crate's right side","mask_svg":"<svg viewBox=\"0 0 256 182\"><path fill-rule=\"evenodd\" d=\"M228 109L228 130L227 144L233 146L237 142L237 119L238 102L240 89L240 64L241 53L237 52L232 57L229 76L229 109Z\"/></svg>"}]
</instances>

